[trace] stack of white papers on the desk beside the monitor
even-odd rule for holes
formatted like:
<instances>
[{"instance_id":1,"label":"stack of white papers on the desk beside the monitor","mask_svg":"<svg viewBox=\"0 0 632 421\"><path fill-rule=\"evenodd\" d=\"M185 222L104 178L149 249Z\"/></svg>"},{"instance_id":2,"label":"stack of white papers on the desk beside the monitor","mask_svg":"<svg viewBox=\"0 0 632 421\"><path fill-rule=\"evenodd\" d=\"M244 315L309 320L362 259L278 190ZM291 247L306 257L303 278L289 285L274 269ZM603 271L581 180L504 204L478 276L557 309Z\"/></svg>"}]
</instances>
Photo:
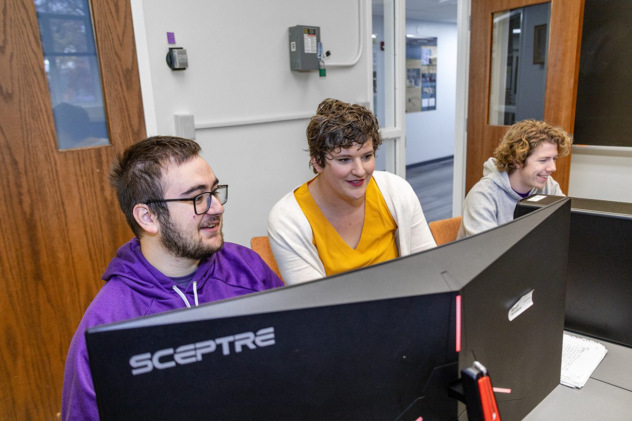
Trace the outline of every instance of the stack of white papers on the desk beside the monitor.
<instances>
[{"instance_id":1,"label":"stack of white papers on the desk beside the monitor","mask_svg":"<svg viewBox=\"0 0 632 421\"><path fill-rule=\"evenodd\" d=\"M598 342L564 333L561 384L581 388L604 359L606 352L608 350Z\"/></svg>"}]
</instances>

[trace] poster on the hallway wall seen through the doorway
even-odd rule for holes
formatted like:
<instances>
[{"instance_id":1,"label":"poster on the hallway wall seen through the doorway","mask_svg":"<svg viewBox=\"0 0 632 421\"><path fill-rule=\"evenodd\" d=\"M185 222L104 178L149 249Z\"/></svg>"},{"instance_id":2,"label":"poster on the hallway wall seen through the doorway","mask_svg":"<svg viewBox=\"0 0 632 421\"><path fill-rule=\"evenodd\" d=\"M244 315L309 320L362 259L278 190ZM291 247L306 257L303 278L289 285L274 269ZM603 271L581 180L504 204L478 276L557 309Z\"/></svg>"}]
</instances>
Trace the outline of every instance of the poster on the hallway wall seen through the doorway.
<instances>
[{"instance_id":1,"label":"poster on the hallway wall seen through the doorway","mask_svg":"<svg viewBox=\"0 0 632 421\"><path fill-rule=\"evenodd\" d=\"M437 109L437 37L406 38L406 112Z\"/></svg>"}]
</instances>

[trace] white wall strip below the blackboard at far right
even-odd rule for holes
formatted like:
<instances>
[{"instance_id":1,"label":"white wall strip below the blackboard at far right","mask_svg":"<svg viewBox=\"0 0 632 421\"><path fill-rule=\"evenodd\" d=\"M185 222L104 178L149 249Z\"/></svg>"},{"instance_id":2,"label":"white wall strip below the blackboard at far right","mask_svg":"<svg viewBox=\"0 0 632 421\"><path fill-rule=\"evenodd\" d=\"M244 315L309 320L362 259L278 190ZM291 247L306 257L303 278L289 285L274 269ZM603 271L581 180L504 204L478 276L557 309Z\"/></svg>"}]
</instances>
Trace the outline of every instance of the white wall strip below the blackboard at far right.
<instances>
[{"instance_id":1,"label":"white wall strip below the blackboard at far right","mask_svg":"<svg viewBox=\"0 0 632 421\"><path fill-rule=\"evenodd\" d=\"M632 203L632 148L573 147L568 195Z\"/></svg>"}]
</instances>

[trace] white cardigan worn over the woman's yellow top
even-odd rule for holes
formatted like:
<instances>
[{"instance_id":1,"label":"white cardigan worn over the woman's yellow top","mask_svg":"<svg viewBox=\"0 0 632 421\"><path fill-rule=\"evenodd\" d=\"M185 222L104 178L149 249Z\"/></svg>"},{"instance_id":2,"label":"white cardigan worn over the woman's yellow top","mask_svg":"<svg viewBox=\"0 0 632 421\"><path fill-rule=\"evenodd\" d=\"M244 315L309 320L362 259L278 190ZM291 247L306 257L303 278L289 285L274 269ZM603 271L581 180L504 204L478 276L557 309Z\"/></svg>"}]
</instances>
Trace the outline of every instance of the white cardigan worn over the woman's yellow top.
<instances>
[{"instance_id":1,"label":"white cardigan worn over the woman's yellow top","mask_svg":"<svg viewBox=\"0 0 632 421\"><path fill-rule=\"evenodd\" d=\"M395 240L399 256L436 247L413 187L389 172L375 171L373 178L397 223ZM312 227L294 197L294 190L279 200L268 215L270 247L287 285L326 276L312 243Z\"/></svg>"}]
</instances>

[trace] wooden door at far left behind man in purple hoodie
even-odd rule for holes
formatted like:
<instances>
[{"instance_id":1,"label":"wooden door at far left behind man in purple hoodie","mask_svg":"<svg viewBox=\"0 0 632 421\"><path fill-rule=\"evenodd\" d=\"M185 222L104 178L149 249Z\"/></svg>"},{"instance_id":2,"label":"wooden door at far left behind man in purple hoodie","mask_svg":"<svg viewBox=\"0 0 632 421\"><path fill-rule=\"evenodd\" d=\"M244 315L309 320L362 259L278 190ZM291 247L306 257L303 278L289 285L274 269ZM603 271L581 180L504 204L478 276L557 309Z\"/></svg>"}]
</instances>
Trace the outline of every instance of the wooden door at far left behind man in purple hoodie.
<instances>
[{"instance_id":1,"label":"wooden door at far left behind man in purple hoodie","mask_svg":"<svg viewBox=\"0 0 632 421\"><path fill-rule=\"evenodd\" d=\"M33 0L0 15L0 419L54 420L64 361L116 249L132 236L107 181L145 136L129 0L93 18L111 146L59 151Z\"/></svg>"}]
</instances>

